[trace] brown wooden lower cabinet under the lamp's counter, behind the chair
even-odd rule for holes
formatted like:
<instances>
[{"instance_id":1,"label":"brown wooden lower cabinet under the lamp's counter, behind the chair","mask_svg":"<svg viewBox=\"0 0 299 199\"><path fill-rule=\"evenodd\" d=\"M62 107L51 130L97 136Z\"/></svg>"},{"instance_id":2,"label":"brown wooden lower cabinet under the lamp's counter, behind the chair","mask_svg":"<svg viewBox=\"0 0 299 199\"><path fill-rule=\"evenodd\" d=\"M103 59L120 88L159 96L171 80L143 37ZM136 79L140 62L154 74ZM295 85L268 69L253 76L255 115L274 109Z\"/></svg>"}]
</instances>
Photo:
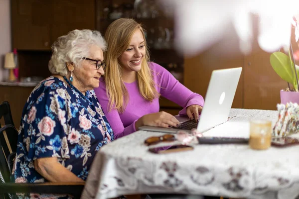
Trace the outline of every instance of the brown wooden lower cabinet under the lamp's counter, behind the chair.
<instances>
[{"instance_id":1,"label":"brown wooden lower cabinet under the lamp's counter, behind the chair","mask_svg":"<svg viewBox=\"0 0 299 199\"><path fill-rule=\"evenodd\" d=\"M19 127L23 107L34 87L0 86L0 103L8 101L12 119L16 128Z\"/></svg>"}]
</instances>

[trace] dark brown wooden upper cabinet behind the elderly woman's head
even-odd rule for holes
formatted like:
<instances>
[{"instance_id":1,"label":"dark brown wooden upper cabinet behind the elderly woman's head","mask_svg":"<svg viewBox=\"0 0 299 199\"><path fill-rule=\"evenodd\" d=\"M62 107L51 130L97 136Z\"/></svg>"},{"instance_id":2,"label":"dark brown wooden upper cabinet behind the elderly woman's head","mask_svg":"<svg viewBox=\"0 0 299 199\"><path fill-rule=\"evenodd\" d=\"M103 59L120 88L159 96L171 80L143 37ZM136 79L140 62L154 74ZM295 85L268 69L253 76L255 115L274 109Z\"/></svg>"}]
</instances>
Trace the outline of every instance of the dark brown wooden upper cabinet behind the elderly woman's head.
<instances>
[{"instance_id":1,"label":"dark brown wooden upper cabinet behind the elderly woman's head","mask_svg":"<svg viewBox=\"0 0 299 199\"><path fill-rule=\"evenodd\" d=\"M12 47L50 50L74 29L95 29L95 0L11 0Z\"/></svg>"}]
</instances>

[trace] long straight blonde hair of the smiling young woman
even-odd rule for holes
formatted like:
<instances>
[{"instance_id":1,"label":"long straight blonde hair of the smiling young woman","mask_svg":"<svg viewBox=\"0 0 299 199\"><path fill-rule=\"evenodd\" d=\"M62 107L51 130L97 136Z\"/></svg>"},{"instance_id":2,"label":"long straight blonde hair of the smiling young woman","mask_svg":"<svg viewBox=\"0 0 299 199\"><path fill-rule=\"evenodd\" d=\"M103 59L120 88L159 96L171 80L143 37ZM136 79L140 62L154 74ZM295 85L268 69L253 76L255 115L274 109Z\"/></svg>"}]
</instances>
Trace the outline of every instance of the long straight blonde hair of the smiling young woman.
<instances>
[{"instance_id":1,"label":"long straight blonde hair of the smiling young woman","mask_svg":"<svg viewBox=\"0 0 299 199\"><path fill-rule=\"evenodd\" d=\"M159 97L148 65L149 49L146 43L145 30L134 19L120 18L112 22L105 33L105 40L108 44L107 52L104 53L104 60L107 64L105 83L109 98L109 111L114 107L119 112L124 112L128 104L129 94L122 80L122 67L119 63L119 57L130 45L131 38L136 30L141 30L146 47L141 70L137 72L139 92L144 99L149 101Z\"/></svg>"}]
</instances>

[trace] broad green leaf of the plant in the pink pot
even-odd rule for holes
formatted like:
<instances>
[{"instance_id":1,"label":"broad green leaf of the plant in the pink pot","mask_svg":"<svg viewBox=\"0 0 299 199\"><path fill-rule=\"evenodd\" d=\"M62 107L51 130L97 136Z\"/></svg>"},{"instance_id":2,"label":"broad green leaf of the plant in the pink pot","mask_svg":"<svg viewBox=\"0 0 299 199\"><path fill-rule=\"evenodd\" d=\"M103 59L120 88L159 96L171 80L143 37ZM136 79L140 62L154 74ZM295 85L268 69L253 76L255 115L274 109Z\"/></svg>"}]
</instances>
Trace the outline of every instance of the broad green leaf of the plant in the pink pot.
<instances>
[{"instance_id":1,"label":"broad green leaf of the plant in the pink pot","mask_svg":"<svg viewBox=\"0 0 299 199\"><path fill-rule=\"evenodd\" d=\"M285 81L294 85L298 89L293 62L289 56L282 52L274 52L270 56L270 63L275 72ZM298 73L297 73L298 74Z\"/></svg>"}]
</instances>

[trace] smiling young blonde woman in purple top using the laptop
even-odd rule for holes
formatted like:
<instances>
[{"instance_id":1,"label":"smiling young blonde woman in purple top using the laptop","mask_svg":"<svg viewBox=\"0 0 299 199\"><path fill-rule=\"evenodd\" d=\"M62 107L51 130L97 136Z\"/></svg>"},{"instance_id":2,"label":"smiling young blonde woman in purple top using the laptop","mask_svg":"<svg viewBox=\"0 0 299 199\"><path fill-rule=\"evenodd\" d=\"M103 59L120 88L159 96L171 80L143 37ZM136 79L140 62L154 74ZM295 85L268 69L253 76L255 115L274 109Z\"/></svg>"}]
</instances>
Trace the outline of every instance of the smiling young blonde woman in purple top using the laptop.
<instances>
[{"instance_id":1,"label":"smiling young blonde woman in purple top using the laptop","mask_svg":"<svg viewBox=\"0 0 299 199\"><path fill-rule=\"evenodd\" d=\"M94 91L116 138L142 125L177 126L179 121L173 115L159 112L160 96L184 107L179 114L198 120L202 96L184 87L160 65L149 62L141 24L134 19L118 19L109 25L105 39L106 75Z\"/></svg>"}]
</instances>

